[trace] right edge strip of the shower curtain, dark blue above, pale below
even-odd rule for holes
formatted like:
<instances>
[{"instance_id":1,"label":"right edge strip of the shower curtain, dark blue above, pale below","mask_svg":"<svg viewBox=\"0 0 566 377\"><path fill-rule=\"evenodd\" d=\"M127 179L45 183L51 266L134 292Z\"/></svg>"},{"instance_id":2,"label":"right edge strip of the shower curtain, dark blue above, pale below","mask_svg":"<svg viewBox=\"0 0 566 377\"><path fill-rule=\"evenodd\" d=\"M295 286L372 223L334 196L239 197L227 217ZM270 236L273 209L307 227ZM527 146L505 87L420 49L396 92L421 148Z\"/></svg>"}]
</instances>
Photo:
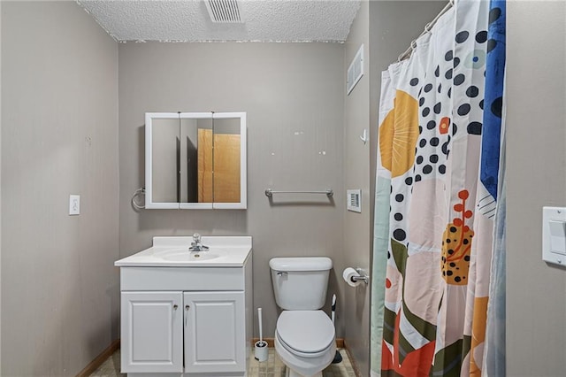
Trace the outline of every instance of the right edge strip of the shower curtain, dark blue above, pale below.
<instances>
[{"instance_id":1,"label":"right edge strip of the shower curtain, dark blue above, pale below","mask_svg":"<svg viewBox=\"0 0 566 377\"><path fill-rule=\"evenodd\" d=\"M493 256L489 305L487 308L484 374L504 376L505 367L505 122L503 119L505 81L506 4L492 0L487 32L486 92L480 178L497 200L493 225ZM501 150L500 150L501 145ZM499 176L497 175L499 171Z\"/></svg>"}]
</instances>

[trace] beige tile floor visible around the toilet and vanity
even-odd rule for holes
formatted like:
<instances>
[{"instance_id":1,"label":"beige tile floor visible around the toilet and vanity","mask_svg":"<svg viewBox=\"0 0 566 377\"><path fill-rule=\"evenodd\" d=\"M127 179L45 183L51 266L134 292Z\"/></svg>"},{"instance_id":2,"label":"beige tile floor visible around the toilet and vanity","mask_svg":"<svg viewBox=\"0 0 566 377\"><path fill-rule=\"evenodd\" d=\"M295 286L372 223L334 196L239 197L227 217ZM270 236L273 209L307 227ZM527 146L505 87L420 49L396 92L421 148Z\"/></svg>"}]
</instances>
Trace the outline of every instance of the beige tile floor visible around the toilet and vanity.
<instances>
[{"instance_id":1,"label":"beige tile floor visible around the toilet and vanity","mask_svg":"<svg viewBox=\"0 0 566 377\"><path fill-rule=\"evenodd\" d=\"M252 350L253 352L253 350ZM354 369L348 359L346 350L340 350L342 361L338 364L331 364L323 371L323 377L356 377ZM111 358L104 361L91 377L126 377L126 374L120 371L120 350L114 352ZM253 354L250 358L249 377L285 377L285 365L279 360L275 354L275 349L269 349L269 357L267 361L258 362Z\"/></svg>"}]
</instances>

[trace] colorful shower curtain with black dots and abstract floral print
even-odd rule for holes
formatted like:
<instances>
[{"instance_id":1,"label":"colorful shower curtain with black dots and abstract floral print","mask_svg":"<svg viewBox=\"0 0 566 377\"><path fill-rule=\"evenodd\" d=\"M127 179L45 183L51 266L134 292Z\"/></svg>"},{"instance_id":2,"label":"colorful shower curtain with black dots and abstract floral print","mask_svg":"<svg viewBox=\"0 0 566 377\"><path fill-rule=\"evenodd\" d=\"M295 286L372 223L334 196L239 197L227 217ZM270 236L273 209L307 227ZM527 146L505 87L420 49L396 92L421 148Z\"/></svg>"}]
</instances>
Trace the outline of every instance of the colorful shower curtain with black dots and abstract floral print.
<instances>
[{"instance_id":1,"label":"colorful shower curtain with black dots and abstract floral print","mask_svg":"<svg viewBox=\"0 0 566 377\"><path fill-rule=\"evenodd\" d=\"M457 1L382 74L372 375L486 372L504 5Z\"/></svg>"}]
</instances>

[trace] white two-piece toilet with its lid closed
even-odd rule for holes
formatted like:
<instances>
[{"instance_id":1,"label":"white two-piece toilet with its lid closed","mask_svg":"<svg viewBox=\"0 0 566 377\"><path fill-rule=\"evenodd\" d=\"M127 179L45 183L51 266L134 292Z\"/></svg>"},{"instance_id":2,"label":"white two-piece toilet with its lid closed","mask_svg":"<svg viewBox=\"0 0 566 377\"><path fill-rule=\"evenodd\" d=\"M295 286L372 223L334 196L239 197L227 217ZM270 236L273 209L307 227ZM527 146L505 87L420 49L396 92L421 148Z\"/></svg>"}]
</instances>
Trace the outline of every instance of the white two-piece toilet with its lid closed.
<instances>
[{"instance_id":1,"label":"white two-piece toilet with its lid closed","mask_svg":"<svg viewBox=\"0 0 566 377\"><path fill-rule=\"evenodd\" d=\"M321 377L336 354L332 320L325 304L330 258L272 258L275 301L283 312L277 319L275 351L287 376Z\"/></svg>"}]
</instances>

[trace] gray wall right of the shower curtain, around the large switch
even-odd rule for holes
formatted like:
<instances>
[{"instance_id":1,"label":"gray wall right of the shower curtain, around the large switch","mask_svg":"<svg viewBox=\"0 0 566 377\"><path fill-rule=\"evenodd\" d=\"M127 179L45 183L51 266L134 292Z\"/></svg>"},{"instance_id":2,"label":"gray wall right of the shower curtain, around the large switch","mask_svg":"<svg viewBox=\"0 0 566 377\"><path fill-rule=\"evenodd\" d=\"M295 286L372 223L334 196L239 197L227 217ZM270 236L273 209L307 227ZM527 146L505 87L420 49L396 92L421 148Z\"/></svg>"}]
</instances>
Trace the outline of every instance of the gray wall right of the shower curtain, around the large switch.
<instances>
[{"instance_id":1,"label":"gray wall right of the shower curtain, around the large switch","mask_svg":"<svg viewBox=\"0 0 566 377\"><path fill-rule=\"evenodd\" d=\"M541 258L542 206L566 206L566 3L508 2L507 374L566 374L566 270Z\"/></svg>"}]
</instances>

